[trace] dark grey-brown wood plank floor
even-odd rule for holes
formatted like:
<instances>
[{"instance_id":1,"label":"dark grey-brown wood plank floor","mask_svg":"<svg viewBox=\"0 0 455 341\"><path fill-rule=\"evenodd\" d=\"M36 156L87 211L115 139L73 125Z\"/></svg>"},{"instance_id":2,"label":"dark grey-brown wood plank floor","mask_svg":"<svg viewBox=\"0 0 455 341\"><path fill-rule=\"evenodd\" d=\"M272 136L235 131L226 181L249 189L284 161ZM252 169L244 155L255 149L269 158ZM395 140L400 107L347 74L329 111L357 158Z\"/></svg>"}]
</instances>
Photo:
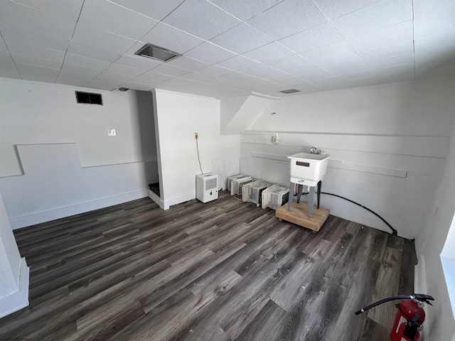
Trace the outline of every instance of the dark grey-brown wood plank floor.
<instances>
[{"instance_id":1,"label":"dark grey-brown wood plank floor","mask_svg":"<svg viewBox=\"0 0 455 341\"><path fill-rule=\"evenodd\" d=\"M30 305L0 340L388 340L414 244L330 216L318 233L221 192L148 198L14 232Z\"/></svg>"}]
</instances>

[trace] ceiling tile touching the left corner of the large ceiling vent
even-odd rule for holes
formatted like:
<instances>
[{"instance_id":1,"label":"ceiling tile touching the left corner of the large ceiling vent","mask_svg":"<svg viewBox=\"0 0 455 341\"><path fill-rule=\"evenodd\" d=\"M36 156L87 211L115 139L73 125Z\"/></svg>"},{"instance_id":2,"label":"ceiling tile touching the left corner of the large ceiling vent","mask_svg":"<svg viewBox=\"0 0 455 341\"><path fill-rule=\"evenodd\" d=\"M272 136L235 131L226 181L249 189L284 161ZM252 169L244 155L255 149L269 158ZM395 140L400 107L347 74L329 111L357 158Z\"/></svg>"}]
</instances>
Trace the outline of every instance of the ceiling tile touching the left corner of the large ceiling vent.
<instances>
[{"instance_id":1,"label":"ceiling tile touching the left corner of the large ceiling vent","mask_svg":"<svg viewBox=\"0 0 455 341\"><path fill-rule=\"evenodd\" d=\"M129 50L137 40L117 36L116 34L107 31L97 30L96 28L77 25L73 36L76 43L93 46L99 50L109 51L111 53L124 53ZM71 44L73 45L73 44ZM80 53L79 53L80 54ZM89 55L88 57L94 57ZM99 58L105 59L105 58Z\"/></svg>"}]
</instances>

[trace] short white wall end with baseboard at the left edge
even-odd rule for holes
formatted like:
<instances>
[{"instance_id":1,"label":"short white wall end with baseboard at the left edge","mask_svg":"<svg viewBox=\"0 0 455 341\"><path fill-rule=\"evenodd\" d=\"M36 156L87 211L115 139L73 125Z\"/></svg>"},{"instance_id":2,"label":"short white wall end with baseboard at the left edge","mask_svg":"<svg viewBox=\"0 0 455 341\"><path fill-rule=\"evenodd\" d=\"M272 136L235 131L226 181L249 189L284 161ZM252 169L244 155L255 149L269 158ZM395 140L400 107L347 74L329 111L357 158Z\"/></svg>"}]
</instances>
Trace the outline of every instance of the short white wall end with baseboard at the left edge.
<instances>
[{"instance_id":1,"label":"short white wall end with baseboard at the left edge","mask_svg":"<svg viewBox=\"0 0 455 341\"><path fill-rule=\"evenodd\" d=\"M0 318L28 305L28 273L0 193Z\"/></svg>"}]
</instances>

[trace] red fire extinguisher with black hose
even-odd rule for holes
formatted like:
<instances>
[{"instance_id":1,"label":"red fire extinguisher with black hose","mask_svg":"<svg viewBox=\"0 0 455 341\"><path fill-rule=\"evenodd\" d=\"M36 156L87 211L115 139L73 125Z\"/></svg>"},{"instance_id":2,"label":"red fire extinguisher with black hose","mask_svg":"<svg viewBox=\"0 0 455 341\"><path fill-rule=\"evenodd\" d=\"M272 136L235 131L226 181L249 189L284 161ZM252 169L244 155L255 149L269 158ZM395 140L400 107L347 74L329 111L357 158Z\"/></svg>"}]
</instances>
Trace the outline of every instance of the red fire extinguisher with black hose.
<instances>
[{"instance_id":1,"label":"red fire extinguisher with black hose","mask_svg":"<svg viewBox=\"0 0 455 341\"><path fill-rule=\"evenodd\" d=\"M355 315L365 313L365 311L374 308L377 305L389 301L402 300L395 306L398 308L395 315L395 322L390 331L390 340L392 341L419 341L419 331L422 330L422 323L425 320L424 303L432 305L429 301L434 298L422 293L413 293L412 295L394 296L385 298L381 301L368 305L367 307L355 312Z\"/></svg>"}]
</instances>

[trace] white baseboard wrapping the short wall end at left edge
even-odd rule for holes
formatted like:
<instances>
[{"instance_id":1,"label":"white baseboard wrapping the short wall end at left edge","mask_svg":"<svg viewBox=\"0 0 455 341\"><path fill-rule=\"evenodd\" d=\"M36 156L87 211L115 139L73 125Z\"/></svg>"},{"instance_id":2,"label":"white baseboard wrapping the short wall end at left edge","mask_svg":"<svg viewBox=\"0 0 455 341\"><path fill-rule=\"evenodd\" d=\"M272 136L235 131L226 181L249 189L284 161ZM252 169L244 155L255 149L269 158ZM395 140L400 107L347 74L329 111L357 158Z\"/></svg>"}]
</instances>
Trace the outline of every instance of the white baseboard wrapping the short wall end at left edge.
<instances>
[{"instance_id":1,"label":"white baseboard wrapping the short wall end at left edge","mask_svg":"<svg viewBox=\"0 0 455 341\"><path fill-rule=\"evenodd\" d=\"M21 269L19 271L18 290L11 295L0 298L0 318L21 310L28 305L28 283L30 268L27 266L26 259L21 259Z\"/></svg>"}]
</instances>

